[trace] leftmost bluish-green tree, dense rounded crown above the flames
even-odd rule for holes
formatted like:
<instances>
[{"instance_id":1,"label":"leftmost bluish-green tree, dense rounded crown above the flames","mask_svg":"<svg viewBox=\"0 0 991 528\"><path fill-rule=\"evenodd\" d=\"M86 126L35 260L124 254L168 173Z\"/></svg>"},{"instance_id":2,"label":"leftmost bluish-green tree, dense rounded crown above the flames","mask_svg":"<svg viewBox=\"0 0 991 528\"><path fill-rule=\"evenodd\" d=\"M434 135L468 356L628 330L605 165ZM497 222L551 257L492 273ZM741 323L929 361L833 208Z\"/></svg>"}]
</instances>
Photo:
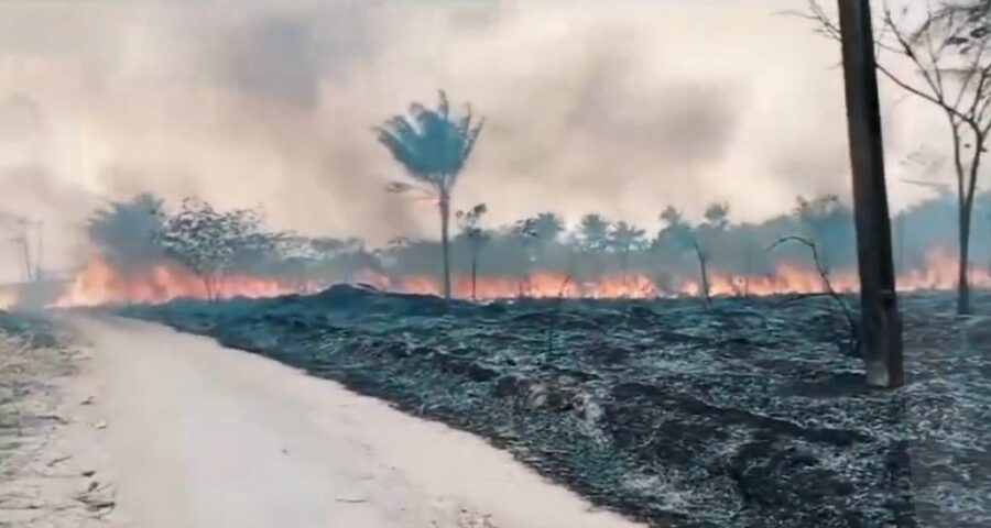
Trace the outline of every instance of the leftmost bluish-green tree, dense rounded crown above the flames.
<instances>
[{"instance_id":1,"label":"leftmost bluish-green tree, dense rounded crown above the flames","mask_svg":"<svg viewBox=\"0 0 991 528\"><path fill-rule=\"evenodd\" d=\"M117 272L144 272L164 256L162 246L155 243L164 219L163 201L142 194L97 210L86 222L86 234Z\"/></svg>"}]
</instances>

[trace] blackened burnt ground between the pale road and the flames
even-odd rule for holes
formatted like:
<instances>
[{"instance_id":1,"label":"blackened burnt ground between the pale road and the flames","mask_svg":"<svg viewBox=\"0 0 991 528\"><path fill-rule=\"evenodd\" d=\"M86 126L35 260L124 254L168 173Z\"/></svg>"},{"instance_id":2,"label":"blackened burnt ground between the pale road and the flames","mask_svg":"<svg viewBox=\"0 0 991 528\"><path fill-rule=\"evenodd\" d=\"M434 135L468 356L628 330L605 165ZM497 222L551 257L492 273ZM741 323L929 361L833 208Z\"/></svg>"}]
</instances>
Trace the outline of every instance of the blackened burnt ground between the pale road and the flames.
<instances>
[{"instance_id":1,"label":"blackened burnt ground between the pale road and the flames","mask_svg":"<svg viewBox=\"0 0 991 528\"><path fill-rule=\"evenodd\" d=\"M991 526L991 319L954 317L950 294L902 297L910 383L871 391L831 301L334 287L121 312L486 437L651 526Z\"/></svg>"}]
</instances>

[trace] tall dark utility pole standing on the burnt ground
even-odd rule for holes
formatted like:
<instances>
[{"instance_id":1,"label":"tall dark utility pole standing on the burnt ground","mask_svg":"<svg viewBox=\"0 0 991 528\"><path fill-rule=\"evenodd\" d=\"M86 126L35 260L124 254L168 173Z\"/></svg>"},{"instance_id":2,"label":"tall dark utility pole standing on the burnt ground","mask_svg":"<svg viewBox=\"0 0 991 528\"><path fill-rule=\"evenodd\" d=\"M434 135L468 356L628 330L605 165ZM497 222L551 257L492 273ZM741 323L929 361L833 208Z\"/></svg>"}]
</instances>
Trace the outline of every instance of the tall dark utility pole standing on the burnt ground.
<instances>
[{"instance_id":1,"label":"tall dark utility pole standing on the burnt ground","mask_svg":"<svg viewBox=\"0 0 991 528\"><path fill-rule=\"evenodd\" d=\"M860 265L861 352L868 385L905 383L902 319L891 255L881 105L870 0L838 0Z\"/></svg>"}]
</instances>

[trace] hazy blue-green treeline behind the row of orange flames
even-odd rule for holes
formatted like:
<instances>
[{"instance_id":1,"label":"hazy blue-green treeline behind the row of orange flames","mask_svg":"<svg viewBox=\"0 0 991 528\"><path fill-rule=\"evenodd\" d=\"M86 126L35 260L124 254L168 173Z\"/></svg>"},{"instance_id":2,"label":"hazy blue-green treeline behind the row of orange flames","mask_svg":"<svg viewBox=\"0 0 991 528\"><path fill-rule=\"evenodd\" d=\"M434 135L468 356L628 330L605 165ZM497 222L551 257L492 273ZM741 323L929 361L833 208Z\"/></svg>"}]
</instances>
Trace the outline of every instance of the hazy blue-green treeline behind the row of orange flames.
<instances>
[{"instance_id":1,"label":"hazy blue-green treeline behind the row of orange flames","mask_svg":"<svg viewBox=\"0 0 991 528\"><path fill-rule=\"evenodd\" d=\"M927 254L952 253L956 205L937 197L893 219L895 261L901 271L924 268ZM773 275L782 263L814 270L806 244L778 244L801 237L815 244L828 271L857 266L852 213L834 196L797 198L789 215L760 223L734 222L726 204L712 204L698 222L676 208L658 213L650 228L590 213L568 226L553 212L490 227L484 205L457 211L450 240L451 270L461 276L520 277L553 272L576 282L603 275L640 274L662 289L675 289L690 277ZM978 200L973 262L991 263L991 195ZM259 209L219 211L188 199L170 207L152 195L113 202L87 224L92 246L122 274L141 274L171 262L199 275L209 290L225 275L248 273L307 277L315 280L361 280L368 272L393 279L442 274L436 240L396 238L372 248L358 238L307 238L265 227ZM772 248L773 246L773 248Z\"/></svg>"}]
</instances>

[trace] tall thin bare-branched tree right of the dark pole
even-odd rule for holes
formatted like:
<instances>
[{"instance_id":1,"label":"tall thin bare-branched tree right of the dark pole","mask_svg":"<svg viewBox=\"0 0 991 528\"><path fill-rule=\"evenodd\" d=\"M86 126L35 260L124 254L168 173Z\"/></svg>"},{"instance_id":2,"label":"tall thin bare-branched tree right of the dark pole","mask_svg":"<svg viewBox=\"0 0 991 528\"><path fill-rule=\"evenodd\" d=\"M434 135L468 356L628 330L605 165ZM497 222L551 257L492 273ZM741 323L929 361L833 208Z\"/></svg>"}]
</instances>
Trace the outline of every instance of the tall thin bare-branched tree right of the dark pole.
<instances>
[{"instance_id":1,"label":"tall thin bare-branched tree right of the dark pole","mask_svg":"<svg viewBox=\"0 0 991 528\"><path fill-rule=\"evenodd\" d=\"M838 24L817 0L803 14L817 31L839 40ZM991 31L988 0L936 1L882 11L878 70L946 119L957 183L957 312L971 311L970 233L977 182L991 134ZM882 54L907 62L913 76L895 73Z\"/></svg>"}]
</instances>

